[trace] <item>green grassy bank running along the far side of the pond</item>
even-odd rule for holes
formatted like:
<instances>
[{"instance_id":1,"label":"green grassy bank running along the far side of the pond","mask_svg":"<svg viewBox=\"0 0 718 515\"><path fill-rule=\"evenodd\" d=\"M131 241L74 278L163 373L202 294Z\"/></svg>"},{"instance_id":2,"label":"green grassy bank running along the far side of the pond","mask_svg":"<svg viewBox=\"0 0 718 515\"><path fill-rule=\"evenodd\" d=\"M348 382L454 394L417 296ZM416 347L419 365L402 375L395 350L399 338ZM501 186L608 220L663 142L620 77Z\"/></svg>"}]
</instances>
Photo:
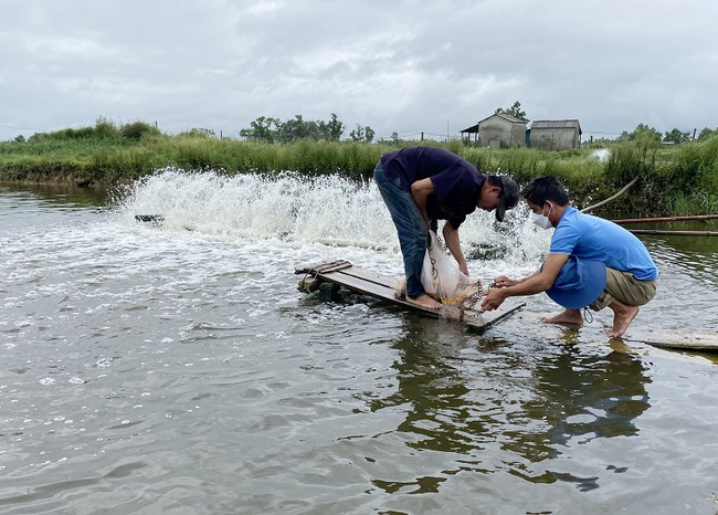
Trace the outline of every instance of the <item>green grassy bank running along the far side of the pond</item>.
<instances>
[{"instance_id":1,"label":"green grassy bank running along the far side of the pond","mask_svg":"<svg viewBox=\"0 0 718 515\"><path fill-rule=\"evenodd\" d=\"M650 141L609 146L608 159L594 149L540 151L530 148L475 148L461 140L404 141L448 148L489 174L508 174L519 185L539 175L557 176L581 208L603 200L638 178L624 196L598 214L679 216L718 212L718 138L661 147ZM0 181L65 183L108 188L131 182L166 167L188 171L273 175L293 170L307 177L338 174L371 178L380 156L400 148L389 144L299 140L263 144L220 139L192 130L178 136L154 127L95 127L38 134L28 140L0 143Z\"/></svg>"}]
</instances>

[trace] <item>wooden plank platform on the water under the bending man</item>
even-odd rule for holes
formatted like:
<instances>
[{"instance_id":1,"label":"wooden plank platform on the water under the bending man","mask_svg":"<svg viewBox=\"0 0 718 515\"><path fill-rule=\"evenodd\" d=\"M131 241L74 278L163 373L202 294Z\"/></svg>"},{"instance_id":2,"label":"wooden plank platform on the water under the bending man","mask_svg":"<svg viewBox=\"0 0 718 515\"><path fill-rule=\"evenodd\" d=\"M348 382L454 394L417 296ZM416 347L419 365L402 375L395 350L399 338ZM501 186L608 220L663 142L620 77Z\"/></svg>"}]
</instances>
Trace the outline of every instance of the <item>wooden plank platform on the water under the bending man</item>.
<instances>
[{"instance_id":1,"label":"wooden plank platform on the water under the bending man","mask_svg":"<svg viewBox=\"0 0 718 515\"><path fill-rule=\"evenodd\" d=\"M323 282L337 284L355 293L369 295L434 318L442 318L441 311L429 309L409 303L403 298L397 298L394 294L398 281L397 278L381 275L369 270L359 269L351 265L348 261L326 262L312 266L296 266L295 273L309 274ZM525 305L526 303L524 302L508 299L498 309L493 312L479 313L475 311L466 311L464 318L456 322L483 332L507 316L513 315Z\"/></svg>"}]
</instances>

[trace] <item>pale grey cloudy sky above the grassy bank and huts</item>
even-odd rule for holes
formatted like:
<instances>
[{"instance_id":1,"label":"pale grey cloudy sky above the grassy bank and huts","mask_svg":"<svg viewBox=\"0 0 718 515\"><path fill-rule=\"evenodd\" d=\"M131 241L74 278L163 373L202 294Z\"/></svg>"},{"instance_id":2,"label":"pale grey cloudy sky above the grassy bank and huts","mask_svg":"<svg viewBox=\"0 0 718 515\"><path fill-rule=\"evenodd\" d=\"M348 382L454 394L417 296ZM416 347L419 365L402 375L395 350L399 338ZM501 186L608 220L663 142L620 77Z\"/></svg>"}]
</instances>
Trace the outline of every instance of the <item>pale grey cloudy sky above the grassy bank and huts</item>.
<instances>
[{"instance_id":1,"label":"pale grey cloudy sky above the grassy bank and huts","mask_svg":"<svg viewBox=\"0 0 718 515\"><path fill-rule=\"evenodd\" d=\"M0 0L0 140L302 115L444 139L514 102L583 138L718 127L716 0Z\"/></svg>"}]
</instances>

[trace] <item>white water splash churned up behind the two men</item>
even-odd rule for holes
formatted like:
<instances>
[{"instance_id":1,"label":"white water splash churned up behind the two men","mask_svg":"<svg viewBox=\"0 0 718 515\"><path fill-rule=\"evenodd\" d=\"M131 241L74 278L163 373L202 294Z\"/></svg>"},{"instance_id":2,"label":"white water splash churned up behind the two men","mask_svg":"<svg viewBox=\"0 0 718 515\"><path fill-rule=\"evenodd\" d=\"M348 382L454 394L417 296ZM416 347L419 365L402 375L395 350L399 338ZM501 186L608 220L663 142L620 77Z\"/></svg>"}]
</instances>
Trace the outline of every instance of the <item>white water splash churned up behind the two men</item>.
<instances>
[{"instance_id":1,"label":"white water splash churned up behind the two men","mask_svg":"<svg viewBox=\"0 0 718 515\"><path fill-rule=\"evenodd\" d=\"M399 253L397 232L373 181L339 176L306 178L284 172L224 176L168 168L130 186L117 201L127 223L135 214L161 214L162 231L197 231L231 239L277 239L294 244L357 246ZM469 260L496 261L493 269L535 267L549 234L537 232L519 204L504 223L477 210L461 228Z\"/></svg>"}]
</instances>

